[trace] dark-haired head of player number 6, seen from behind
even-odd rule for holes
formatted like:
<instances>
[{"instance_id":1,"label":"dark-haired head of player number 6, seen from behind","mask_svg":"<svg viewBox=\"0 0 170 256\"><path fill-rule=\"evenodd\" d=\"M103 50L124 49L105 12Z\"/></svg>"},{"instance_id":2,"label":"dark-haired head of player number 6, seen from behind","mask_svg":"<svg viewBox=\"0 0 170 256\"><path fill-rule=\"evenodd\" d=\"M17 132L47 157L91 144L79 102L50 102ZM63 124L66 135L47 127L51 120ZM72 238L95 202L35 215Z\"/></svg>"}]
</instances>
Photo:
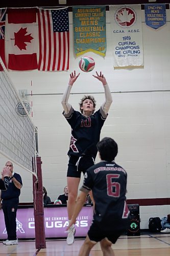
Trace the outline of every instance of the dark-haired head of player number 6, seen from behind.
<instances>
[{"instance_id":1,"label":"dark-haired head of player number 6, seen from behind","mask_svg":"<svg viewBox=\"0 0 170 256\"><path fill-rule=\"evenodd\" d=\"M117 143L112 138L103 138L97 143L97 148L100 153L101 160L113 161L117 156Z\"/></svg>"}]
</instances>

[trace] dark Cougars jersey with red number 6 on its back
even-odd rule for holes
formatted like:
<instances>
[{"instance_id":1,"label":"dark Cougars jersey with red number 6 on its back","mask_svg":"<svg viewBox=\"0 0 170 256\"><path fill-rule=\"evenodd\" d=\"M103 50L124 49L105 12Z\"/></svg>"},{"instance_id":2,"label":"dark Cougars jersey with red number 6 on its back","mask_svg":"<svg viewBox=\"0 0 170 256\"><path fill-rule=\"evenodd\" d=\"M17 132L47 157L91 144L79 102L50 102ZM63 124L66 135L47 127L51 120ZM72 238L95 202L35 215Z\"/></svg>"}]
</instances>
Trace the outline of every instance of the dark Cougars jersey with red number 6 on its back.
<instances>
[{"instance_id":1,"label":"dark Cougars jersey with red number 6 on its back","mask_svg":"<svg viewBox=\"0 0 170 256\"><path fill-rule=\"evenodd\" d=\"M85 193L92 190L95 202L94 220L106 229L125 229L129 216L126 203L127 173L115 162L102 161L90 168L84 175ZM105 225L110 223L110 225Z\"/></svg>"}]
</instances>

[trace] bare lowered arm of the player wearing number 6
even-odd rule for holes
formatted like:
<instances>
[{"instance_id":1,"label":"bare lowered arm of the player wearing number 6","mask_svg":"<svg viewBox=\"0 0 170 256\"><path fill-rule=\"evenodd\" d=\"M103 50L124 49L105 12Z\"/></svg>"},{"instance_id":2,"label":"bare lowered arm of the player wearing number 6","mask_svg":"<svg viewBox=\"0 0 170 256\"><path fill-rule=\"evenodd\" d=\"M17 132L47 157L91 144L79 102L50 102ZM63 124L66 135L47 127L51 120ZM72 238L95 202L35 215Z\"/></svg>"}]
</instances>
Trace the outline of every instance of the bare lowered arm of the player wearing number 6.
<instances>
[{"instance_id":1,"label":"bare lowered arm of the player wearing number 6","mask_svg":"<svg viewBox=\"0 0 170 256\"><path fill-rule=\"evenodd\" d=\"M69 227L72 225L72 224L75 224L76 223L76 219L79 215L79 212L81 211L83 205L85 204L86 202L86 196L87 196L87 193L81 191L80 195L78 196L77 200L76 200L76 205L75 205L75 209L74 209L74 212L73 212L73 215L71 217L71 220L69 222L69 225L67 227L66 230L69 229Z\"/></svg>"}]
</instances>

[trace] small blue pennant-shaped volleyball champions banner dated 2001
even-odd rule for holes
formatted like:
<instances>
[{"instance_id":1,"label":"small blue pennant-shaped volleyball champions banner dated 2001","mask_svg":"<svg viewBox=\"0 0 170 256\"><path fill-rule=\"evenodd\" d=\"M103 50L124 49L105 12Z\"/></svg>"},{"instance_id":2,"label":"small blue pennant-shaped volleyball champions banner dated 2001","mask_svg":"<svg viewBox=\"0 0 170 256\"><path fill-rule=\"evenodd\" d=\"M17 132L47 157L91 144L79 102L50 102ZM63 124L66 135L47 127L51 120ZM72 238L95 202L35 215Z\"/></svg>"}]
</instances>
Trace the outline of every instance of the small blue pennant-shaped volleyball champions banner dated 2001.
<instances>
[{"instance_id":1,"label":"small blue pennant-shaped volleyball champions banner dated 2001","mask_svg":"<svg viewBox=\"0 0 170 256\"><path fill-rule=\"evenodd\" d=\"M158 29L166 24L166 5L144 5L145 23L147 26Z\"/></svg>"}]
</instances>

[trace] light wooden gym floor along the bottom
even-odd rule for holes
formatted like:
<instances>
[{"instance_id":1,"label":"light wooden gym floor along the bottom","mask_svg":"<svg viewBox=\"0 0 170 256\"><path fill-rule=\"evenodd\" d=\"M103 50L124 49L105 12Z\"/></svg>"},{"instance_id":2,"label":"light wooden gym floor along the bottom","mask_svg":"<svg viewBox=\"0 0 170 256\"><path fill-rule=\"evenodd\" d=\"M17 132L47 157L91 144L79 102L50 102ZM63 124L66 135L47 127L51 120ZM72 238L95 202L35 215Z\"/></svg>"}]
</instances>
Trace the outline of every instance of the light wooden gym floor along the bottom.
<instances>
[{"instance_id":1,"label":"light wooden gym floor along the bottom","mask_svg":"<svg viewBox=\"0 0 170 256\"><path fill-rule=\"evenodd\" d=\"M67 245L65 240L47 240L45 249L36 249L35 241L19 241L18 245L4 245L0 242L0 256L77 256L84 240L75 240ZM115 256L169 256L170 233L121 236L112 245ZM90 256L102 256L100 244L96 244Z\"/></svg>"}]
</instances>

